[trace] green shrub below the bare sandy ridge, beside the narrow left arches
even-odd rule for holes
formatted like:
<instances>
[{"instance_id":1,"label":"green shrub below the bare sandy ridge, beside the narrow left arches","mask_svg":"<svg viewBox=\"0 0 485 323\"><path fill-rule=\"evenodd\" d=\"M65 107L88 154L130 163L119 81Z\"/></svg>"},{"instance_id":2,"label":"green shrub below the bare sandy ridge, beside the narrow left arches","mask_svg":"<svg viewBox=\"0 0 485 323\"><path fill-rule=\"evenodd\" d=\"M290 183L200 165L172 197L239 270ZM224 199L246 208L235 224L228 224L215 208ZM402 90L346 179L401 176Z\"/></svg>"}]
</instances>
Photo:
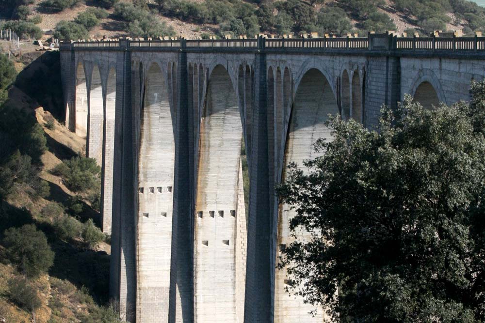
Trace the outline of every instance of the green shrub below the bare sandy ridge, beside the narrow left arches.
<instances>
[{"instance_id":1,"label":"green shrub below the bare sandy ridge, beside the narrow left arches","mask_svg":"<svg viewBox=\"0 0 485 323\"><path fill-rule=\"evenodd\" d=\"M58 164L53 173L62 176L66 186L73 192L98 190L101 185L101 168L94 158L73 157Z\"/></svg>"}]
</instances>

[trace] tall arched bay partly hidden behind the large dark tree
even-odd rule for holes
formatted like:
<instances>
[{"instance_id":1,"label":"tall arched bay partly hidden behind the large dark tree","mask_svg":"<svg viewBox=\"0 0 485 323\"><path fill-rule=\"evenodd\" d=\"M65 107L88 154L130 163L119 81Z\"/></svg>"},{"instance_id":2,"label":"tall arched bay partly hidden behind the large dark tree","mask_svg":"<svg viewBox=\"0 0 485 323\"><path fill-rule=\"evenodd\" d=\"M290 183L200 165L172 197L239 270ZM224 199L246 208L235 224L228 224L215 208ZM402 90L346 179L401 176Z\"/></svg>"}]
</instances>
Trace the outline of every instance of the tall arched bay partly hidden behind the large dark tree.
<instances>
[{"instance_id":1,"label":"tall arched bay partly hidden behind the large dark tree","mask_svg":"<svg viewBox=\"0 0 485 323\"><path fill-rule=\"evenodd\" d=\"M288 132L285 166L295 162L299 167L305 159L315 158L321 153L315 153L313 144L318 138L331 139L331 129L324 123L328 114L339 114L337 100L327 78L317 69L310 69L302 77L296 90L291 111L291 123ZM284 167L286 171L286 167ZM305 169L303 169L305 171ZM283 174L283 178L286 173ZM278 219L278 236L276 261L281 256L281 250L290 244L294 238L290 234L290 219L295 215L288 205L280 205ZM300 232L305 239L307 232ZM321 308L312 317L308 312L314 309L304 304L300 296L288 296L285 288L291 284L286 270L275 273L275 323L287 322L323 322L324 313Z\"/></svg>"}]
</instances>

